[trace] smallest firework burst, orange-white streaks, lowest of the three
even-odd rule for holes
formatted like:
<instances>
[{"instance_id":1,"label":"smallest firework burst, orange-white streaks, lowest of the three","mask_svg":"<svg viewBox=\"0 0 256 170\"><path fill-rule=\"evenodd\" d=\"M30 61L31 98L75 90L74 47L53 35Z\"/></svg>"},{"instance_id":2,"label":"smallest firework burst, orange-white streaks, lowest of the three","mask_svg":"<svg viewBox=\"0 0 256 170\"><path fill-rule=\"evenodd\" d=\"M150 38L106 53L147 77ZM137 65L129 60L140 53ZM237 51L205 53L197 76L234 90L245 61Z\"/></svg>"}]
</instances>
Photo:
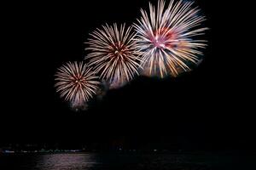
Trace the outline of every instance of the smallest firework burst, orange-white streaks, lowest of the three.
<instances>
[{"instance_id":1,"label":"smallest firework burst, orange-white streaks, lowest of the three","mask_svg":"<svg viewBox=\"0 0 256 170\"><path fill-rule=\"evenodd\" d=\"M55 88L61 98L70 101L72 107L82 108L96 94L100 82L91 69L83 62L68 62L55 74Z\"/></svg>"}]
</instances>

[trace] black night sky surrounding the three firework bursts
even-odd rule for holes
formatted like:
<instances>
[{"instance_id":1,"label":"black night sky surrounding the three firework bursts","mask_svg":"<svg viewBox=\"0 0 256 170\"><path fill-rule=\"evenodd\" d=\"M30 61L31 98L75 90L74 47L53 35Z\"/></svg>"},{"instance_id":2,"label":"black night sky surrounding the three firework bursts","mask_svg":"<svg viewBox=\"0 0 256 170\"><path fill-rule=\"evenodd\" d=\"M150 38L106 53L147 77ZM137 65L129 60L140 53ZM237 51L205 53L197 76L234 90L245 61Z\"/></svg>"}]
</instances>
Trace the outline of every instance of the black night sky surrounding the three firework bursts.
<instances>
[{"instance_id":1,"label":"black night sky surrounding the three firework bursts","mask_svg":"<svg viewBox=\"0 0 256 170\"><path fill-rule=\"evenodd\" d=\"M233 4L195 3L211 28L205 59L195 71L176 79L137 78L108 91L84 112L71 111L55 93L56 68L84 59L83 42L96 27L106 22L131 25L140 8L148 8L148 0L11 4L14 16L8 20L8 54L2 63L7 78L2 82L1 142L129 139L255 149L250 110L255 90L247 66L252 56L242 50L246 44Z\"/></svg>"}]
</instances>

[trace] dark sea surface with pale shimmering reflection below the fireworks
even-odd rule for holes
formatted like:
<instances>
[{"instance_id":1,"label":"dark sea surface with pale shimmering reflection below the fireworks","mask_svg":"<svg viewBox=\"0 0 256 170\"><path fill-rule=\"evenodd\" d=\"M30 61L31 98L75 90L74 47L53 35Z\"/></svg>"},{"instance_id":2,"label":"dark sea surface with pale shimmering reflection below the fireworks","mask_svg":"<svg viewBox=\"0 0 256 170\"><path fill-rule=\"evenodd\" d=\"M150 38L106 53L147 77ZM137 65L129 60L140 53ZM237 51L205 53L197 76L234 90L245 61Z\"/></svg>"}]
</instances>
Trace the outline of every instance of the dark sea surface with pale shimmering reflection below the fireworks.
<instances>
[{"instance_id":1,"label":"dark sea surface with pale shimmering reflection below the fireworks","mask_svg":"<svg viewBox=\"0 0 256 170\"><path fill-rule=\"evenodd\" d=\"M0 154L8 170L251 170L256 155L230 154Z\"/></svg>"}]
</instances>

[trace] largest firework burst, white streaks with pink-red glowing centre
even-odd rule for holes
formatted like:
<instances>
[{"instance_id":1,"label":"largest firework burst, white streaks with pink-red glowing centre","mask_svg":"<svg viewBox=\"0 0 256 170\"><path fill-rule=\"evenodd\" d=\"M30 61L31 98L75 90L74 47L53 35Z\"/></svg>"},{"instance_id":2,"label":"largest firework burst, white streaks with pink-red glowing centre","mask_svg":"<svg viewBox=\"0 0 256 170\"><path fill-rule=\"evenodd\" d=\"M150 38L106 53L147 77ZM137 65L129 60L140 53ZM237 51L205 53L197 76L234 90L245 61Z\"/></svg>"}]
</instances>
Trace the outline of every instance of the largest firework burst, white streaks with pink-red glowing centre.
<instances>
[{"instance_id":1,"label":"largest firework burst, white streaks with pink-red glowing centre","mask_svg":"<svg viewBox=\"0 0 256 170\"><path fill-rule=\"evenodd\" d=\"M159 0L157 8L149 3L149 14L141 10L142 17L134 26L145 75L176 77L200 60L206 41L198 38L207 30L201 27L206 19L192 5L171 0L166 6L165 1Z\"/></svg>"}]
</instances>

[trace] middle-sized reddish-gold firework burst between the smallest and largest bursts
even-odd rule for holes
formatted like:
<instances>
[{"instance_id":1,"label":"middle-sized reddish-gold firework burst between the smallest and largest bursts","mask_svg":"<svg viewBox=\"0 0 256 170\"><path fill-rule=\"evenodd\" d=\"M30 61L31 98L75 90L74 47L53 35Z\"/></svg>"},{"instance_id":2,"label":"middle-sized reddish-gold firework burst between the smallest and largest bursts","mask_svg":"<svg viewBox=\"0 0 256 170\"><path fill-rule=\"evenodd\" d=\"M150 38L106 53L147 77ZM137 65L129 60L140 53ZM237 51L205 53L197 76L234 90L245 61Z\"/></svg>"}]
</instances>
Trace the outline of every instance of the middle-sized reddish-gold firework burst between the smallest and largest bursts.
<instances>
[{"instance_id":1,"label":"middle-sized reddish-gold firework burst between the smallest and largest bursts","mask_svg":"<svg viewBox=\"0 0 256 170\"><path fill-rule=\"evenodd\" d=\"M118 28L116 24L106 25L90 36L86 42L89 48L85 48L90 50L90 54L85 59L90 59L89 65L109 83L110 88L118 88L138 74L140 59L131 26L125 28L121 25Z\"/></svg>"}]
</instances>

